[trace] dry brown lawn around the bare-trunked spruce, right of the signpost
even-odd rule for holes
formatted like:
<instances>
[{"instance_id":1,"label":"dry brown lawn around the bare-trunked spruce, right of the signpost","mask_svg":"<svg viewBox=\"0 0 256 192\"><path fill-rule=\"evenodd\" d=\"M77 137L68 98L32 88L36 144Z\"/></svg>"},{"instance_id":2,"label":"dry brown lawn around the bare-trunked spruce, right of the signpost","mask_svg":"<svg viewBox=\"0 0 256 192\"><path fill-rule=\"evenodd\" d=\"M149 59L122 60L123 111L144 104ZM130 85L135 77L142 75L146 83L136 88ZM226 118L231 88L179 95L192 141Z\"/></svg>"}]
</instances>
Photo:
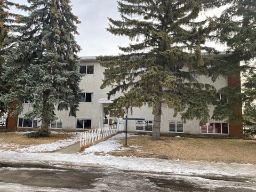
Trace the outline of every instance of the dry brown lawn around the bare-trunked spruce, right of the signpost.
<instances>
[{"instance_id":1,"label":"dry brown lawn around the bare-trunked spruce, right of the signpost","mask_svg":"<svg viewBox=\"0 0 256 192\"><path fill-rule=\"evenodd\" d=\"M124 139L120 141L124 145ZM116 156L181 159L225 163L256 164L256 140L173 138L153 141L148 136L129 137L127 150L114 151Z\"/></svg>"}]
</instances>

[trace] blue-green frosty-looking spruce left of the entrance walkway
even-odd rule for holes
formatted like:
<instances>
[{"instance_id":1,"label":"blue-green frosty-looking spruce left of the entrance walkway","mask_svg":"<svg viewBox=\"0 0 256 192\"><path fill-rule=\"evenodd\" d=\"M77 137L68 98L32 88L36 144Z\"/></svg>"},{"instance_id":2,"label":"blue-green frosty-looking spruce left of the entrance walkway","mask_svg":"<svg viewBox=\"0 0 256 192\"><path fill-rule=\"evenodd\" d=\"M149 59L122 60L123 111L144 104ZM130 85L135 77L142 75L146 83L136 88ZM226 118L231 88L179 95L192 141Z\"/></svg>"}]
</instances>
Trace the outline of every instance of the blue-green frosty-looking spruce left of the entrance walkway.
<instances>
[{"instance_id":1,"label":"blue-green frosty-looking spruce left of the entrance walkway","mask_svg":"<svg viewBox=\"0 0 256 192\"><path fill-rule=\"evenodd\" d=\"M11 88L2 95L7 109L18 115L24 100L31 108L25 118L42 120L41 129L48 131L55 119L54 110L78 110L81 79L75 41L78 18L71 12L68 0L30 0L18 9L28 15L15 17L12 47L6 57L4 81ZM17 101L17 106L13 102Z\"/></svg>"}]
</instances>

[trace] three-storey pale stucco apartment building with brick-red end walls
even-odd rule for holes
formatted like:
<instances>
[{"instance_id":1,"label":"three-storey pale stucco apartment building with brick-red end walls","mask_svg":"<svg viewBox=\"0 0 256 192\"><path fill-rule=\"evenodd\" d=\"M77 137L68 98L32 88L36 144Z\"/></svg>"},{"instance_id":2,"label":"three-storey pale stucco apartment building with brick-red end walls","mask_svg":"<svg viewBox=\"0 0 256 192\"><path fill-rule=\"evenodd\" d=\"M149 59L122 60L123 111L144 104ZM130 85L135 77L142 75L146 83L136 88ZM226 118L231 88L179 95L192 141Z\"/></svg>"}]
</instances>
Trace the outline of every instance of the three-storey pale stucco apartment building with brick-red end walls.
<instances>
[{"instance_id":1,"label":"three-storey pale stucco apartment building with brick-red end walls","mask_svg":"<svg viewBox=\"0 0 256 192\"><path fill-rule=\"evenodd\" d=\"M58 119L52 121L50 130L55 131L85 131L96 129L102 126L115 124L119 131L124 131L125 121L123 117L117 117L117 111L110 110L105 113L104 109L109 105L111 100L107 99L107 92L111 89L100 89L103 72L106 69L99 65L95 57L82 57L81 68L79 72L84 74L80 87L83 90L79 111L76 117L69 117L68 111L55 111ZM225 86L235 86L239 83L239 77L227 76L219 77L217 81L212 82L211 78L198 77L198 81L209 83L221 89ZM119 95L116 94L115 97ZM221 95L219 95L221 97ZM40 124L38 119L25 119L24 114L31 108L29 102L24 102L23 113L17 117L8 118L8 130L36 130ZM214 106L209 105L211 113ZM129 132L150 133L153 129L154 116L152 110L147 106L133 108L133 113L129 113L129 118L141 118L145 120L129 120L127 123ZM124 113L122 114L124 115ZM212 137L243 137L242 124L228 124L226 121L210 120L206 125L199 126L199 120L187 121L182 123L181 116L173 117L173 110L163 106L163 115L161 121L161 133L166 135L205 135Z\"/></svg>"}]
</instances>

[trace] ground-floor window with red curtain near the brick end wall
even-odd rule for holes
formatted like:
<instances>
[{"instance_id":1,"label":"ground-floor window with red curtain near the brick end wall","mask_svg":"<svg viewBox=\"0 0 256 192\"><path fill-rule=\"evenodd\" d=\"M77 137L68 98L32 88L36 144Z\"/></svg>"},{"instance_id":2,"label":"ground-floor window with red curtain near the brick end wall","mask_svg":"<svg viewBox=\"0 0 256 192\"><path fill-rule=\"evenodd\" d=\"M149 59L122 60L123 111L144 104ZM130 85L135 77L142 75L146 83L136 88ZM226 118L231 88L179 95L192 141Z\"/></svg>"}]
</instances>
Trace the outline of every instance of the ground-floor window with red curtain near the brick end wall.
<instances>
[{"instance_id":1,"label":"ground-floor window with red curtain near the brick end wall","mask_svg":"<svg viewBox=\"0 0 256 192\"><path fill-rule=\"evenodd\" d=\"M201 133L228 134L227 123L206 123L201 126Z\"/></svg>"}]
</instances>

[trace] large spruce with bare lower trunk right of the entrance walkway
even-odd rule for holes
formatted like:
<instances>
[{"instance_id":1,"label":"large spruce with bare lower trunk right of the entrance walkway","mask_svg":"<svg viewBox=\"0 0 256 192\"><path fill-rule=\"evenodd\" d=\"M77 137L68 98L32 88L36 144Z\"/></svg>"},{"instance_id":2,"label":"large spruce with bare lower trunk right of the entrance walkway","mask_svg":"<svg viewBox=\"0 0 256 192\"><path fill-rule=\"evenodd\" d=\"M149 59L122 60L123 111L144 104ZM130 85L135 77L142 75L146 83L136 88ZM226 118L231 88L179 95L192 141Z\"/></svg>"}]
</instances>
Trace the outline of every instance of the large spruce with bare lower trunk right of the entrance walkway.
<instances>
[{"instance_id":1,"label":"large spruce with bare lower trunk right of the entrance walkway","mask_svg":"<svg viewBox=\"0 0 256 192\"><path fill-rule=\"evenodd\" d=\"M218 52L205 46L212 20L197 19L203 10L220 2L123 0L118 1L122 19L109 18L110 33L135 43L120 47L124 54L98 57L109 69L101 88L113 86L109 99L123 92L110 108L147 103L154 114L153 140L160 139L163 103L174 110L174 116L181 113L183 122L197 118L205 124L210 117L207 102L214 100L214 87L199 83L196 77L209 75L207 66L221 59L202 54Z\"/></svg>"}]
</instances>

